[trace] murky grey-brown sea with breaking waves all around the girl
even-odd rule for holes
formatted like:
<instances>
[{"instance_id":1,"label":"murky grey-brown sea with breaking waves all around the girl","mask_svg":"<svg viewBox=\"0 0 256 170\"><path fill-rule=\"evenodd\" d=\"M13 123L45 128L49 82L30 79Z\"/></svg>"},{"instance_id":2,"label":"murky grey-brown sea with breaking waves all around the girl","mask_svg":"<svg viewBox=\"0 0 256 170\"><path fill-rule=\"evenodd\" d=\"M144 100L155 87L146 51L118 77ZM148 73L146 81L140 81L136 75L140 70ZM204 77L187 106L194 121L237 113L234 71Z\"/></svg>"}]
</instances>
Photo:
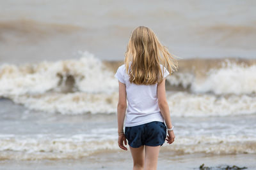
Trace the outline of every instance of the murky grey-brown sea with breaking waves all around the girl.
<instances>
[{"instance_id":1,"label":"murky grey-brown sea with breaking waves all around the girl","mask_svg":"<svg viewBox=\"0 0 256 170\"><path fill-rule=\"evenodd\" d=\"M256 169L256 1L0 1L0 169L132 169L118 148L118 66L150 27L175 141L158 169Z\"/></svg>"}]
</instances>

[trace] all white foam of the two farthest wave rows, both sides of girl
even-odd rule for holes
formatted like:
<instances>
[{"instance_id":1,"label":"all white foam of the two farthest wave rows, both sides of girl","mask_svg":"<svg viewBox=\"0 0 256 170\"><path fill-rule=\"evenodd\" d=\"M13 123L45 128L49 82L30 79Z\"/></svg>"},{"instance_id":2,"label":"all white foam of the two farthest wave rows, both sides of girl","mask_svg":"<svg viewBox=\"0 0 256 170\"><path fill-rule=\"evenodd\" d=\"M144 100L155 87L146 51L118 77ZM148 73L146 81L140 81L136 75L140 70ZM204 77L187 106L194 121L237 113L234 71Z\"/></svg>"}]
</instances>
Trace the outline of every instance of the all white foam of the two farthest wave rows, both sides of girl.
<instances>
[{"instance_id":1,"label":"all white foam of the two farthest wave rows, both sides of girl","mask_svg":"<svg viewBox=\"0 0 256 170\"><path fill-rule=\"evenodd\" d=\"M0 96L30 110L69 115L116 113L116 69L91 53L80 52L80 55L72 60L2 65ZM183 70L168 76L167 88L183 87L181 91L167 93L172 115L214 117L256 113L256 65L229 60L221 64L206 73L200 67L191 70L192 67L187 68L190 72Z\"/></svg>"}]
</instances>

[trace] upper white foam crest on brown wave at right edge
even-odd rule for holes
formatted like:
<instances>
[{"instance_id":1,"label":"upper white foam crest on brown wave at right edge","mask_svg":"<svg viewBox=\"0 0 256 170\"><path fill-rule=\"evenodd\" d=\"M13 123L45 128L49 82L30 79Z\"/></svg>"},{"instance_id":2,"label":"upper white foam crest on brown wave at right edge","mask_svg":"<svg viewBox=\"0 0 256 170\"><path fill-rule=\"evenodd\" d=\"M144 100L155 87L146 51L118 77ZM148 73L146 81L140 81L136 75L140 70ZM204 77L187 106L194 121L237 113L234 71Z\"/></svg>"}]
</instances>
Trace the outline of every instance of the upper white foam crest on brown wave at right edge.
<instances>
[{"instance_id":1,"label":"upper white foam crest on brown wave at right edge","mask_svg":"<svg viewBox=\"0 0 256 170\"><path fill-rule=\"evenodd\" d=\"M237 65L229 60L220 69L211 69L207 78L191 85L193 92L214 92L214 94L256 93L256 65Z\"/></svg>"}]
</instances>

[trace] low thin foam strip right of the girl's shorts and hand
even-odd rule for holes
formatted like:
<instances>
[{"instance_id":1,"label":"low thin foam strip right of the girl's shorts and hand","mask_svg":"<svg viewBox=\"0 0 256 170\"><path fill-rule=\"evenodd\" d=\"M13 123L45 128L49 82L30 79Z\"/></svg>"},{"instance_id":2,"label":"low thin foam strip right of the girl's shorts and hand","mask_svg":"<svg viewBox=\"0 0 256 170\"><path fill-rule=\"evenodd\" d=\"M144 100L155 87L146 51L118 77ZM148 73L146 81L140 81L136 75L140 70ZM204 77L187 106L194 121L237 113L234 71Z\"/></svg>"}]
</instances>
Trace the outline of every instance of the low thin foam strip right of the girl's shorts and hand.
<instances>
[{"instance_id":1,"label":"low thin foam strip right of the girl's shorts and hand","mask_svg":"<svg viewBox=\"0 0 256 170\"><path fill-rule=\"evenodd\" d=\"M172 146L164 150L178 153L212 153L212 154L239 154L256 153L256 138L248 136L191 136L175 138Z\"/></svg>"}]
</instances>

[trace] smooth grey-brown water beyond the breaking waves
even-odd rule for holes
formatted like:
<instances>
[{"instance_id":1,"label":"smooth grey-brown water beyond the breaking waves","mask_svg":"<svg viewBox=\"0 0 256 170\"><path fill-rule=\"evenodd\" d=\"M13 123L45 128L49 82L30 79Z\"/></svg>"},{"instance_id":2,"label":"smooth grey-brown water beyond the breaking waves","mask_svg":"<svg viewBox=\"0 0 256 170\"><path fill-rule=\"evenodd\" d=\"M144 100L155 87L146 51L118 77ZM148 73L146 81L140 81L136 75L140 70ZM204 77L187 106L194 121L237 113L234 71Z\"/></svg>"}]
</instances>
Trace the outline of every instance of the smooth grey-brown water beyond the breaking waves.
<instances>
[{"instance_id":1,"label":"smooth grey-brown water beyond the breaking waves","mask_svg":"<svg viewBox=\"0 0 256 170\"><path fill-rule=\"evenodd\" d=\"M122 60L150 27L183 59L255 58L255 1L1 1L1 62L70 59L88 50Z\"/></svg>"}]
</instances>

